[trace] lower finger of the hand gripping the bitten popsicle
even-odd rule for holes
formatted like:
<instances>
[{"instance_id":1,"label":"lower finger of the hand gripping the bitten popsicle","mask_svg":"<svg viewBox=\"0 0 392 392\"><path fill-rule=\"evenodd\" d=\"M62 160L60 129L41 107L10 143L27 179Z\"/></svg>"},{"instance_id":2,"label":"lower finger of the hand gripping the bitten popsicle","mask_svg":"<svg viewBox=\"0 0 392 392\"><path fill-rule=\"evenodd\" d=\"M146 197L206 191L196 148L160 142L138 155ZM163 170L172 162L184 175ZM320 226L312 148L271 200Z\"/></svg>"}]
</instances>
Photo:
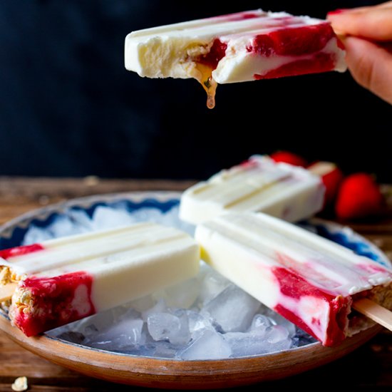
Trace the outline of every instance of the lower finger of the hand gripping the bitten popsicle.
<instances>
[{"instance_id":1,"label":"lower finger of the hand gripping the bitten popsicle","mask_svg":"<svg viewBox=\"0 0 392 392\"><path fill-rule=\"evenodd\" d=\"M346 63L356 82L392 104L392 53L356 37L345 38L344 46Z\"/></svg>"}]
</instances>

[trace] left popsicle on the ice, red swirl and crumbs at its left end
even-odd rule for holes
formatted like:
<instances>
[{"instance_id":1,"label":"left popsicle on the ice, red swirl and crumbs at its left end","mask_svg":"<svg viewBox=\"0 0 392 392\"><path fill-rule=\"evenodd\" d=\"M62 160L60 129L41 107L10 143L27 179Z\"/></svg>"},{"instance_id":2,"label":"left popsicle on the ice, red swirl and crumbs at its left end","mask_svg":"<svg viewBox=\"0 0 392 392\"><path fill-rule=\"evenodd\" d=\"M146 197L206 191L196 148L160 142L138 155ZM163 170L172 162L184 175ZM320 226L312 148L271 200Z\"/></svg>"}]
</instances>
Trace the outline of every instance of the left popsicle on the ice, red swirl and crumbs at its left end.
<instances>
[{"instance_id":1,"label":"left popsicle on the ice, red swirl and crumbs at its left end","mask_svg":"<svg viewBox=\"0 0 392 392\"><path fill-rule=\"evenodd\" d=\"M14 289L3 305L33 336L194 276L200 250L185 232L145 222L5 249L0 257L0 296L1 287Z\"/></svg>"}]
</instances>

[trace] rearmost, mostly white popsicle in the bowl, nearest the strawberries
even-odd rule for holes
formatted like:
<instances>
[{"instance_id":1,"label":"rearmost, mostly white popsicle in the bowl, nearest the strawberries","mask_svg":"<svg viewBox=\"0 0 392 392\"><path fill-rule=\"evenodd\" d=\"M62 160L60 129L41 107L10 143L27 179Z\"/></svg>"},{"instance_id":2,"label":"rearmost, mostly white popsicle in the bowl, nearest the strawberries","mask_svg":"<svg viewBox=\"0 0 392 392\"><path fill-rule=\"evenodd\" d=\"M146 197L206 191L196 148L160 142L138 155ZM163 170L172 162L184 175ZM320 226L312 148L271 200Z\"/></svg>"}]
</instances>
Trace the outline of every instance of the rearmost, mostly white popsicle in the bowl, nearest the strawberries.
<instances>
[{"instance_id":1,"label":"rearmost, mostly white popsicle in the bowl, nearest the strawberries","mask_svg":"<svg viewBox=\"0 0 392 392\"><path fill-rule=\"evenodd\" d=\"M303 167L253 155L185 190L179 213L194 225L228 212L247 211L295 222L321 210L324 190L321 177Z\"/></svg>"}]
</instances>

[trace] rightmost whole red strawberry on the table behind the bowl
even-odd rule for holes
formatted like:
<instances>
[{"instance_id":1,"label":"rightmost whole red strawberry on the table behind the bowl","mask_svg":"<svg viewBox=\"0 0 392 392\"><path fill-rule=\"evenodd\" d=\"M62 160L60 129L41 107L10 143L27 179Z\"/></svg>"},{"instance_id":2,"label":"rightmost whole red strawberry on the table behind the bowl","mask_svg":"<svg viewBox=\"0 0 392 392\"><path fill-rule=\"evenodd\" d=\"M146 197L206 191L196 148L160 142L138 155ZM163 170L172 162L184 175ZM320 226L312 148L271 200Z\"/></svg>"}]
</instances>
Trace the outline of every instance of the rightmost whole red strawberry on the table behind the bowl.
<instances>
[{"instance_id":1,"label":"rightmost whole red strawberry on the table behind the bowl","mask_svg":"<svg viewBox=\"0 0 392 392\"><path fill-rule=\"evenodd\" d=\"M385 200L374 178L365 172L347 176L336 197L336 216L354 220L381 214Z\"/></svg>"}]
</instances>

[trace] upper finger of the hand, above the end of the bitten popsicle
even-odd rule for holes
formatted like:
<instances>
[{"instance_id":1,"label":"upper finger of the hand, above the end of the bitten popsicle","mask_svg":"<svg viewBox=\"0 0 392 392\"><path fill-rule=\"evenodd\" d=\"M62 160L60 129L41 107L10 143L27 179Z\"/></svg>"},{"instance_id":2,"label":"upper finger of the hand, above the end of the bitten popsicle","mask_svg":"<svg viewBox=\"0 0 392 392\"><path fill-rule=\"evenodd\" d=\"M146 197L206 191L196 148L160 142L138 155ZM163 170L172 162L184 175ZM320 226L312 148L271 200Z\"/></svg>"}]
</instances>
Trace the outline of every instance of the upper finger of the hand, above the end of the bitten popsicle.
<instances>
[{"instance_id":1,"label":"upper finger of the hand, above the end of the bitten popsicle","mask_svg":"<svg viewBox=\"0 0 392 392\"><path fill-rule=\"evenodd\" d=\"M359 36L373 41L392 40L392 6L330 13L327 19L341 35Z\"/></svg>"}]
</instances>

